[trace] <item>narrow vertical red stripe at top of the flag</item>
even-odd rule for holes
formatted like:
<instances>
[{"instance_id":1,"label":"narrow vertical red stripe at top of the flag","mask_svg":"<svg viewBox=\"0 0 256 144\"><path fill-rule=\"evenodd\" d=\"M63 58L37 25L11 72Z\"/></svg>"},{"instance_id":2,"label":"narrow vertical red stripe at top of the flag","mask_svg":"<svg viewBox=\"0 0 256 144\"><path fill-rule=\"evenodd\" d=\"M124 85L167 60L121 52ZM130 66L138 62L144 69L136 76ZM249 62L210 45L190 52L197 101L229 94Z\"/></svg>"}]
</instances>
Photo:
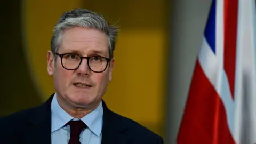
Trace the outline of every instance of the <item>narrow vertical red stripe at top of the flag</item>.
<instances>
[{"instance_id":1,"label":"narrow vertical red stripe at top of the flag","mask_svg":"<svg viewBox=\"0 0 256 144\"><path fill-rule=\"evenodd\" d=\"M238 0L225 0L224 6L224 70L232 98L235 89Z\"/></svg>"}]
</instances>

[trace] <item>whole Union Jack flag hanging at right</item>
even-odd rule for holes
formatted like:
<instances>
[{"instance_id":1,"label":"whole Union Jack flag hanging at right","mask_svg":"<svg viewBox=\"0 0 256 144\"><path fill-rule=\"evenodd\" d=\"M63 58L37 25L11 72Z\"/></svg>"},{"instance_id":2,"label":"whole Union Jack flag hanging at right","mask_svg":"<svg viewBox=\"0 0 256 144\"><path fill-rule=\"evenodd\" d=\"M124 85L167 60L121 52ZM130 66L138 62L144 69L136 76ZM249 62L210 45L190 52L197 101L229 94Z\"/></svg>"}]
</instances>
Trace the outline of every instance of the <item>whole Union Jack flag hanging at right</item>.
<instances>
[{"instance_id":1,"label":"whole Union Jack flag hanging at right","mask_svg":"<svg viewBox=\"0 0 256 144\"><path fill-rule=\"evenodd\" d=\"M213 0L177 143L256 143L254 0Z\"/></svg>"}]
</instances>

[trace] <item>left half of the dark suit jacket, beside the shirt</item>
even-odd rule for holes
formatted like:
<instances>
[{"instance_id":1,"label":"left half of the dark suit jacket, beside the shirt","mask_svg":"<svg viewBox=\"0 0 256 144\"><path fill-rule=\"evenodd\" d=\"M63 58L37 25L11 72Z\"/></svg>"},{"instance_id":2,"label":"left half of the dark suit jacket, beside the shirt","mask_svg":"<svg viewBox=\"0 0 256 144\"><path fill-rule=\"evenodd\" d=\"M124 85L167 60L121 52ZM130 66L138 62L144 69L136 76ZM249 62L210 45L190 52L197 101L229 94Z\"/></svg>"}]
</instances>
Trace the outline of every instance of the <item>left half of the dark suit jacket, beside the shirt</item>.
<instances>
[{"instance_id":1,"label":"left half of the dark suit jacket, beside the shirt","mask_svg":"<svg viewBox=\"0 0 256 144\"><path fill-rule=\"evenodd\" d=\"M51 98L38 107L0 118L0 143L50 143ZM45 140L44 140L45 139Z\"/></svg>"}]
</instances>

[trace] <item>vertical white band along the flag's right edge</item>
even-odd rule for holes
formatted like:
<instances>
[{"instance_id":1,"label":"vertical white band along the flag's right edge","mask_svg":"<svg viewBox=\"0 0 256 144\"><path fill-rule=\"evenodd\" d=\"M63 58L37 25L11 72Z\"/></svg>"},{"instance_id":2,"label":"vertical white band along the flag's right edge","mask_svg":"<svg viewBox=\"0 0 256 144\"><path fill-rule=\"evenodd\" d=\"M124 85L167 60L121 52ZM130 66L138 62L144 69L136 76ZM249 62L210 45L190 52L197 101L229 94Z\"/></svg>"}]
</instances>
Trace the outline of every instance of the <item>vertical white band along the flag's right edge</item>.
<instances>
[{"instance_id":1,"label":"vertical white band along the flag's right edge","mask_svg":"<svg viewBox=\"0 0 256 144\"><path fill-rule=\"evenodd\" d=\"M235 82L237 143L256 143L255 1L239 0Z\"/></svg>"}]
</instances>

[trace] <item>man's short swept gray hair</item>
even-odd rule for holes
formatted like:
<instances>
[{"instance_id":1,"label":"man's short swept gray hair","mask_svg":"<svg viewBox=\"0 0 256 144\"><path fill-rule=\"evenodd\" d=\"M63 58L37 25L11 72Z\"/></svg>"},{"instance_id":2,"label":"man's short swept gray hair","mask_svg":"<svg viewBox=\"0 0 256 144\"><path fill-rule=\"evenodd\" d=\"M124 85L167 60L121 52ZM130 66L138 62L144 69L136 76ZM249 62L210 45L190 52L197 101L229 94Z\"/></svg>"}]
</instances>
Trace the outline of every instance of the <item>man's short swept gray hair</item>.
<instances>
[{"instance_id":1,"label":"man's short swept gray hair","mask_svg":"<svg viewBox=\"0 0 256 144\"><path fill-rule=\"evenodd\" d=\"M118 26L112 25L99 14L86 9L74 9L61 15L54 27L51 39L51 51L58 52L61 44L62 32L73 27L95 28L107 34L110 59L114 57L115 43L118 33ZM55 55L56 56L56 55Z\"/></svg>"}]
</instances>

